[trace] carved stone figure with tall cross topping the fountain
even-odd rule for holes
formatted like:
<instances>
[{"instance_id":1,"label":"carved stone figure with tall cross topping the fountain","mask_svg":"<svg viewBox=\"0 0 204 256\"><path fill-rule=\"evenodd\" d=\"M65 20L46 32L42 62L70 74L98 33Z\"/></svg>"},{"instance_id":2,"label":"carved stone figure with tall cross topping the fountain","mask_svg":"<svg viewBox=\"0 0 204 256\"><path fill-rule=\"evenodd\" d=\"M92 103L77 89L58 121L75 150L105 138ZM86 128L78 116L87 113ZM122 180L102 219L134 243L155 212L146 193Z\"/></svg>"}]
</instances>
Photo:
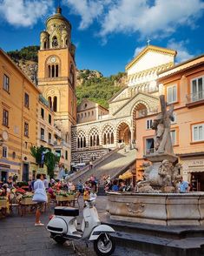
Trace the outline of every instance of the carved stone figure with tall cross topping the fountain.
<instances>
[{"instance_id":1,"label":"carved stone figure with tall cross topping the fountain","mask_svg":"<svg viewBox=\"0 0 204 256\"><path fill-rule=\"evenodd\" d=\"M160 96L161 113L155 118L152 129L155 130L155 151L158 153L173 154L171 143L170 127L171 121L174 121L173 111L174 106L171 105L167 111L167 103L164 95Z\"/></svg>"}]
</instances>

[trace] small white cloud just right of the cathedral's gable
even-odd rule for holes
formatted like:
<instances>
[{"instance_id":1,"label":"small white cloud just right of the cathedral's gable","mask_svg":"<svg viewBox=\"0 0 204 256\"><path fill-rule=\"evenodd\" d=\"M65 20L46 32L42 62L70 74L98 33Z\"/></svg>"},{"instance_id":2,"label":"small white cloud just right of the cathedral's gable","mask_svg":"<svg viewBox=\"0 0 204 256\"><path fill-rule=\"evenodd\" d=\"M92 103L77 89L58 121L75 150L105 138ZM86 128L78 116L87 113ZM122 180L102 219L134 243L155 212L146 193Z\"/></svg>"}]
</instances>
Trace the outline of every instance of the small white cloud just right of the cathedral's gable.
<instances>
[{"instance_id":1,"label":"small white cloud just right of the cathedral's gable","mask_svg":"<svg viewBox=\"0 0 204 256\"><path fill-rule=\"evenodd\" d=\"M168 42L167 47L177 51L176 63L181 63L183 61L188 60L189 58L194 57L194 55L192 55L188 51L185 44L188 44L188 42L187 41L175 42L174 39Z\"/></svg>"}]
</instances>

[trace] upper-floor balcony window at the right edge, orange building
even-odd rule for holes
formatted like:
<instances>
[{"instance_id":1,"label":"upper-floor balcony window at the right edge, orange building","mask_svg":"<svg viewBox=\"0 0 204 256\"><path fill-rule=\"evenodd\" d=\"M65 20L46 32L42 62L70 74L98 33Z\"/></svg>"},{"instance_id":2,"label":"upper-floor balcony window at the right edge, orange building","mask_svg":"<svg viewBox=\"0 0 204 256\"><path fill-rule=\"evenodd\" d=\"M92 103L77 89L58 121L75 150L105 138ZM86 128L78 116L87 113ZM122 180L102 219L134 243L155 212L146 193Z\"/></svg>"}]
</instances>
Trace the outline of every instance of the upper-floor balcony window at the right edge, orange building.
<instances>
[{"instance_id":1,"label":"upper-floor balcony window at the right edge, orange building","mask_svg":"<svg viewBox=\"0 0 204 256\"><path fill-rule=\"evenodd\" d=\"M204 98L204 77L197 77L191 81L192 101Z\"/></svg>"}]
</instances>

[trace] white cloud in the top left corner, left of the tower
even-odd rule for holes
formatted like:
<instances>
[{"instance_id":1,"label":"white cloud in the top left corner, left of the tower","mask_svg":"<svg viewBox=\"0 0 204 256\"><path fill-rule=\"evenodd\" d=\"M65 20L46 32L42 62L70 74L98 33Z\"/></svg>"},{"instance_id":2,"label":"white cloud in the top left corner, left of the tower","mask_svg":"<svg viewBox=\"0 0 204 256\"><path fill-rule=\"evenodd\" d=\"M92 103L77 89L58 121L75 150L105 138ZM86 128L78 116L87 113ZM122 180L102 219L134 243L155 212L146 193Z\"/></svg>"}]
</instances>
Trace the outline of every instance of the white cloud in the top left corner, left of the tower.
<instances>
[{"instance_id":1,"label":"white cloud in the top left corner, left of the tower","mask_svg":"<svg viewBox=\"0 0 204 256\"><path fill-rule=\"evenodd\" d=\"M9 24L29 27L47 15L52 7L52 0L3 0L0 1L0 15Z\"/></svg>"}]
</instances>

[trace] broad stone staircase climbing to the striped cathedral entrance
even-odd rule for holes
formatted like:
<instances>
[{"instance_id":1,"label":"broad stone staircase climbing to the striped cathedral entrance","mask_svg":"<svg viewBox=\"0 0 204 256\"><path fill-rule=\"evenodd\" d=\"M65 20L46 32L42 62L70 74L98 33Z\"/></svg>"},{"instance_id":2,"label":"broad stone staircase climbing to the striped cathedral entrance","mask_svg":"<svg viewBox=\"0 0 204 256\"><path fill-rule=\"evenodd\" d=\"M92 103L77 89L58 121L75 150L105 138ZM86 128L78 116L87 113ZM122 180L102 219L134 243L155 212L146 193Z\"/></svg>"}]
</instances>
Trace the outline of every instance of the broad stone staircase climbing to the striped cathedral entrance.
<instances>
[{"instance_id":1,"label":"broad stone staircase climbing to the striped cathedral entrance","mask_svg":"<svg viewBox=\"0 0 204 256\"><path fill-rule=\"evenodd\" d=\"M135 163L135 158L135 149L127 152L124 148L117 148L102 158L97 159L97 162L94 162L93 169L89 170L89 166L86 166L85 169L77 172L71 179L75 183L77 183L79 179L82 179L82 182L85 182L92 174L99 181L103 175L110 175L111 179L115 179L123 172L126 172L130 165Z\"/></svg>"}]
</instances>

